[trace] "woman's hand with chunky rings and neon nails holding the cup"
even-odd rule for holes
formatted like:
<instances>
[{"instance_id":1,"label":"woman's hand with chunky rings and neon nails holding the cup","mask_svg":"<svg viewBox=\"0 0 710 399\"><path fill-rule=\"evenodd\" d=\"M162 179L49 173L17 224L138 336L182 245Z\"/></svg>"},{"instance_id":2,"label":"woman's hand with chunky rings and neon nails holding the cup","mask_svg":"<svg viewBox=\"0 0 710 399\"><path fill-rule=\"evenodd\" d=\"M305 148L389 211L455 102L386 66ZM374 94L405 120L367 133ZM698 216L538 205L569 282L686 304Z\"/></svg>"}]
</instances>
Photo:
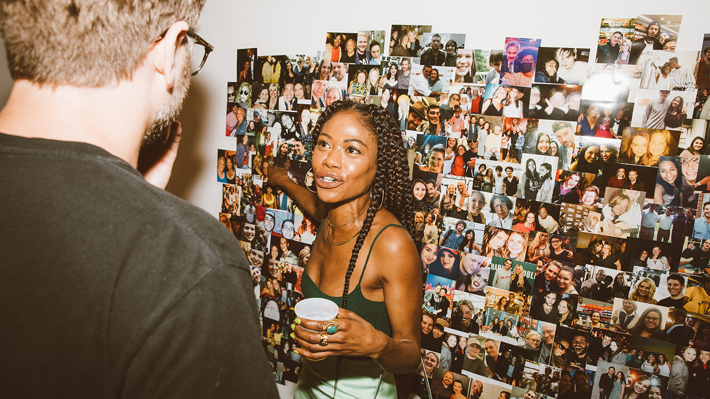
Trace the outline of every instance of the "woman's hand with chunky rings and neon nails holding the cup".
<instances>
[{"instance_id":1,"label":"woman's hand with chunky rings and neon nails holding the cup","mask_svg":"<svg viewBox=\"0 0 710 399\"><path fill-rule=\"evenodd\" d=\"M366 356L377 359L388 346L388 337L385 334L350 310L339 307L338 317L334 322L338 323L340 330L335 334L327 334L328 344L321 346L320 331L327 321L296 319L295 324L291 324L291 338L301 346L298 354L308 359L323 359L327 356Z\"/></svg>"}]
</instances>

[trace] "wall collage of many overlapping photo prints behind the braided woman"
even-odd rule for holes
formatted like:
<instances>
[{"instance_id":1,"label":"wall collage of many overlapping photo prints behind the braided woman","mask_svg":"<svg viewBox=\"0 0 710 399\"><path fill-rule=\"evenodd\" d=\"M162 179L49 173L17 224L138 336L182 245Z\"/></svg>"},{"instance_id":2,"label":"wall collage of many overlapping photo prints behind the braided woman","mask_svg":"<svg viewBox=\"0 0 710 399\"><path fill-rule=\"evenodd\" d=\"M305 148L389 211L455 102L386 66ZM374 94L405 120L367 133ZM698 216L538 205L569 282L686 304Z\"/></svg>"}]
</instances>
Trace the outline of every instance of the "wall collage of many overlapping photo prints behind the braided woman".
<instances>
[{"instance_id":1,"label":"wall collage of many overlapping photo prints behind the braided woman","mask_svg":"<svg viewBox=\"0 0 710 399\"><path fill-rule=\"evenodd\" d=\"M277 382L300 373L289 326L319 221L269 162L317 190L315 121L351 99L399 124L423 204L422 367L401 398L707 397L710 34L676 51L681 23L603 18L568 48L392 25L309 54L237 50L219 219L251 263Z\"/></svg>"}]
</instances>

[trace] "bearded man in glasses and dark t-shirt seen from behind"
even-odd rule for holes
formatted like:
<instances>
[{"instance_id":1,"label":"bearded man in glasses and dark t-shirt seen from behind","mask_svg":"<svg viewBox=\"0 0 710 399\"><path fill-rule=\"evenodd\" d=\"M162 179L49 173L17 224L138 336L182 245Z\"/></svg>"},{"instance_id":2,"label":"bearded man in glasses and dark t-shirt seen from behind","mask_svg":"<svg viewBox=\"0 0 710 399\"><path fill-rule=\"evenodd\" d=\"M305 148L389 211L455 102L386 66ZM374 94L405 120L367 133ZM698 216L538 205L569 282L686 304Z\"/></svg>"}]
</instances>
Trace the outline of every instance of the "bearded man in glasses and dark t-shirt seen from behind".
<instances>
[{"instance_id":1,"label":"bearded man in glasses and dark t-shirt seen from behind","mask_svg":"<svg viewBox=\"0 0 710 399\"><path fill-rule=\"evenodd\" d=\"M278 395L244 251L163 190L202 4L0 4L4 397Z\"/></svg>"}]
</instances>

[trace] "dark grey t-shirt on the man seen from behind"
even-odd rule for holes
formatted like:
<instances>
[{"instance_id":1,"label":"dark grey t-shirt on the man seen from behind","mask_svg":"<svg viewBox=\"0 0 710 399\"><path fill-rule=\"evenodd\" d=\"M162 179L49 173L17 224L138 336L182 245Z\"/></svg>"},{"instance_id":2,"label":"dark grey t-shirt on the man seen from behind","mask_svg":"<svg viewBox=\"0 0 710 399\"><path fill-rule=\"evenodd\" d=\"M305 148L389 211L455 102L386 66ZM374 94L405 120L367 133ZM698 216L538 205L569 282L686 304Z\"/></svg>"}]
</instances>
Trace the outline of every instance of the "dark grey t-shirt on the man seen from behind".
<instances>
[{"instance_id":1,"label":"dark grey t-shirt on the man seen from behind","mask_svg":"<svg viewBox=\"0 0 710 399\"><path fill-rule=\"evenodd\" d=\"M1 397L278 397L217 219L87 143L0 134L0 170Z\"/></svg>"}]
</instances>

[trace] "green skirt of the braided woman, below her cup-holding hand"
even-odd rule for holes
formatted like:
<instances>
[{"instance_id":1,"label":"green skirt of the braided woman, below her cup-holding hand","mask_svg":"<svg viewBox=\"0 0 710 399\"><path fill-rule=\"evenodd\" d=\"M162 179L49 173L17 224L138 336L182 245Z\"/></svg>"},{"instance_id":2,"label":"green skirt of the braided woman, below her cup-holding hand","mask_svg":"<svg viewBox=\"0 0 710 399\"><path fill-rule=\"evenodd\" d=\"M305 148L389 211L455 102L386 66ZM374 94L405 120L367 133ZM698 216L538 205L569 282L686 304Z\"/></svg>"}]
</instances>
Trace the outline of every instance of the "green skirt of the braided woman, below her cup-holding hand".
<instances>
[{"instance_id":1,"label":"green skirt of the braided woman, below her cup-holding hand","mask_svg":"<svg viewBox=\"0 0 710 399\"><path fill-rule=\"evenodd\" d=\"M321 361L304 358L293 398L397 398L394 376L383 371L372 359L343 359L336 381L337 362L338 358L335 356Z\"/></svg>"}]
</instances>

